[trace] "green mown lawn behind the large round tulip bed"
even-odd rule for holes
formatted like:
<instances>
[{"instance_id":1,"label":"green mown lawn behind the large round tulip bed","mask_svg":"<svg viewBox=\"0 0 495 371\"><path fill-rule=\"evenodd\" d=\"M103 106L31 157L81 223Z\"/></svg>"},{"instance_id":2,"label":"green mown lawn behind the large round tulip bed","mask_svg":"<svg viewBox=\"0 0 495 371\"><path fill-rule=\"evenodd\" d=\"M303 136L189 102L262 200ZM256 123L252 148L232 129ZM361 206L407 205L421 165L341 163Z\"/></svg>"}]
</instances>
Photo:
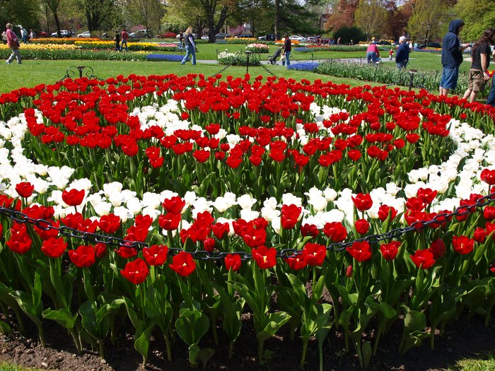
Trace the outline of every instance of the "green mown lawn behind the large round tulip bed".
<instances>
[{"instance_id":1,"label":"green mown lawn behind the large round tulip bed","mask_svg":"<svg viewBox=\"0 0 495 371\"><path fill-rule=\"evenodd\" d=\"M278 48L278 45L269 45L269 54L261 54L261 58L266 60ZM207 44L198 45L199 52L197 53L198 60L216 60L217 52L223 52L228 49L228 52L238 52L245 49L242 44ZM177 54L177 52L163 52L164 54ZM384 53L385 54L385 53ZM22 55L22 46L21 46ZM291 54L291 59L297 61L308 61L309 59L346 59L346 58L365 58L366 52L313 52L301 53L295 50ZM384 55L385 64L394 64L394 61L388 61L388 55ZM433 52L412 52L409 62L411 69L431 69L441 70L440 54ZM150 74L166 74L175 73L182 75L185 73L203 73L205 76L211 76L223 69L224 66L216 64L197 64L192 66L186 64L181 66L178 62L148 62L148 61L81 61L81 60L24 60L22 65L15 62L11 65L4 63L0 64L0 93L6 93L16 88L32 87L39 83L54 83L66 74L66 69L69 66L91 66L95 76L100 78L108 78L122 74L127 76L131 73L138 75ZM465 61L460 70L467 71L470 67L469 61ZM287 71L283 66L270 65L267 68L276 76L284 76L286 78L307 78L315 80L321 78L322 81L332 80L335 83L347 83L351 86L363 85L363 81L351 78L333 78L331 76L322 76L306 71ZM244 76L245 67L229 67L223 72L223 75ZM252 76L269 76L262 67L251 67L249 70ZM373 85L373 84L371 84Z\"/></svg>"}]
</instances>

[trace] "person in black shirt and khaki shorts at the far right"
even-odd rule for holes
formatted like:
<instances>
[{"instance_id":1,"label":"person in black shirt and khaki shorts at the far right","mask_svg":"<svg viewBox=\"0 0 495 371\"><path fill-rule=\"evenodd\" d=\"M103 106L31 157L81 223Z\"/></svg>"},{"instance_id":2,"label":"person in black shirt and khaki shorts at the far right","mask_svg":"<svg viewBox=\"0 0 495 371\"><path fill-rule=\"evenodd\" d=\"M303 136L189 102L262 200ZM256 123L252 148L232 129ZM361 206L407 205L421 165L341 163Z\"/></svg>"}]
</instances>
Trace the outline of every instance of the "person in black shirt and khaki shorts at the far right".
<instances>
[{"instance_id":1,"label":"person in black shirt and khaki shorts at the far right","mask_svg":"<svg viewBox=\"0 0 495 371\"><path fill-rule=\"evenodd\" d=\"M484 89L490 79L488 67L490 66L491 47L495 42L495 30L488 28L471 49L471 68L469 85L462 98L474 102L476 96Z\"/></svg>"}]
</instances>

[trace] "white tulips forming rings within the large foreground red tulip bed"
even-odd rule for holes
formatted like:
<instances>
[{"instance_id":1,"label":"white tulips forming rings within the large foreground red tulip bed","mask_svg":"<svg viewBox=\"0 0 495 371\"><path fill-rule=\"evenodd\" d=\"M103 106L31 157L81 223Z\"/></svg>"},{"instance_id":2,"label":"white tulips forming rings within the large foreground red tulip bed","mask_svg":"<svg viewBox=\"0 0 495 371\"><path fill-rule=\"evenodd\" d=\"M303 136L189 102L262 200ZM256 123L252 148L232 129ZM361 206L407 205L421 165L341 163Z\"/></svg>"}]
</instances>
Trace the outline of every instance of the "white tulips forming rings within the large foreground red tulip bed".
<instances>
[{"instance_id":1,"label":"white tulips forming rings within the large foreground red tulip bed","mask_svg":"<svg viewBox=\"0 0 495 371\"><path fill-rule=\"evenodd\" d=\"M315 103L310 106L313 120L321 129L320 134L333 136L330 129L322 125L323 120L330 115L345 112L337 107L319 107ZM42 122L40 112L37 119ZM180 110L175 100L169 100L165 105L136 108L133 115L139 117L141 129L151 126L160 126L165 135L173 135L177 129L194 129L204 133L204 129L192 125L188 120L180 118ZM296 134L289 139L305 143L308 136L303 132L303 126L298 126L300 138ZM122 218L125 223L142 213L156 219L161 214L161 202L178 194L173 190L164 189L160 192L146 192L142 199L136 197L136 192L125 189L120 182L110 182L103 185L103 189L95 189L91 181L86 178L74 179L74 169L67 166L48 167L43 164L35 164L24 155L22 147L26 122L23 114L9 119L8 122L0 122L0 192L8 196L16 197L15 191L18 182L28 181L35 186L35 194L28 201L36 202L37 196L46 195L47 201L54 206L55 216L62 218L69 213L74 213L74 206L68 206L62 200L64 189L84 189L86 196L83 204L78 206L81 211L84 206L91 206L95 215L93 218L114 213ZM221 129L215 136L218 139L227 139L232 146L243 140L237 134L230 134ZM403 213L406 199L404 196L416 196L419 188L431 188L438 191L439 196L433 201L431 211L453 210L460 204L460 199L469 198L470 194L486 194L487 184L479 181L479 174L485 167L495 168L495 139L493 135L485 135L479 129L474 129L467 123L451 120L450 139L455 143L455 151L445 162L429 165L408 173L409 184L403 188L395 183L388 183L383 188L374 189L371 194L373 206L366 211L368 218L378 218L378 208L381 205L392 206L399 213ZM251 139L252 140L252 139ZM284 139L285 140L285 139ZM13 149L6 148L6 142L10 142ZM462 167L460 164L462 163ZM451 187L452 186L452 187ZM450 188L454 194L445 195ZM271 223L275 232L280 231L280 217L282 205L296 205L303 208L301 223L314 224L317 228L323 228L326 223L334 221L354 223L354 203L351 199L356 195L356 190L339 189L330 187L325 189L308 189L299 197L291 193L281 196L281 199L257 199L250 194L233 194L228 192L216 197L214 200L199 197L190 191L182 196L185 207L182 213L190 211L192 218L198 213L208 211L216 217L216 222L229 223L229 235L233 235L233 214L229 210L235 208L235 215L245 220L265 218ZM361 213L359 213L361 214ZM361 215L359 215L361 217ZM180 227L189 228L192 220L182 220ZM162 231L166 235L166 231Z\"/></svg>"}]
</instances>

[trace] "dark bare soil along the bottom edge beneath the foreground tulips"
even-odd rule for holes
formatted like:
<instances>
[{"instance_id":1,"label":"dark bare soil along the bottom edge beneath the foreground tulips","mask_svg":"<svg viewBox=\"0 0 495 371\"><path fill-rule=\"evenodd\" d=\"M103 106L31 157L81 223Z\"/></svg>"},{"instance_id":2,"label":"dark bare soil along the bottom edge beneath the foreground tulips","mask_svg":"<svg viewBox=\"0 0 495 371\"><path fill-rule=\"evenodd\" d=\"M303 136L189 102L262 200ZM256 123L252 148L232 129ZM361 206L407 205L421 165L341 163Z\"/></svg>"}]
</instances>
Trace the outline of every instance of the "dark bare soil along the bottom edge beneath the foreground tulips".
<instances>
[{"instance_id":1,"label":"dark bare soil along the bottom edge beneath the foreground tulips","mask_svg":"<svg viewBox=\"0 0 495 371\"><path fill-rule=\"evenodd\" d=\"M250 317L249 315L245 317ZM435 349L429 347L429 339L419 348L410 349L405 355L398 353L402 326L397 322L380 341L378 354L372 358L369 370L443 370L455 365L462 358L476 358L484 353L495 351L495 318L485 327L480 317L469 321L467 316L450 324L442 336L436 336ZM28 325L28 321L26 321ZM199 370L299 370L301 341L295 336L291 341L288 330L284 327L279 334L265 342L265 349L272 351L272 358L265 365L257 362L257 340L252 329L252 321L246 318L238 341L235 342L233 358L228 359L228 339L219 328L219 346L215 346L211 333L206 334L202 348L214 348L215 354L206 363L199 365ZM367 334L372 337L373 334ZM71 337L60 326L47 322L45 338L47 347L42 348L33 329L26 330L25 336L14 332L8 336L0 335L0 361L8 361L28 367L47 370L85 370L85 371L176 371L192 370L187 361L187 346L175 339L173 360L166 360L163 336L153 334L148 364L141 364L141 356L134 351L132 334L122 332L119 341L112 346L105 344L105 360L98 352L86 348L82 355L76 355ZM354 348L346 353L341 334L332 334L325 346L324 370L360 370ZM372 341L373 343L373 341ZM318 347L310 341L306 356L305 370L318 370Z\"/></svg>"}]
</instances>

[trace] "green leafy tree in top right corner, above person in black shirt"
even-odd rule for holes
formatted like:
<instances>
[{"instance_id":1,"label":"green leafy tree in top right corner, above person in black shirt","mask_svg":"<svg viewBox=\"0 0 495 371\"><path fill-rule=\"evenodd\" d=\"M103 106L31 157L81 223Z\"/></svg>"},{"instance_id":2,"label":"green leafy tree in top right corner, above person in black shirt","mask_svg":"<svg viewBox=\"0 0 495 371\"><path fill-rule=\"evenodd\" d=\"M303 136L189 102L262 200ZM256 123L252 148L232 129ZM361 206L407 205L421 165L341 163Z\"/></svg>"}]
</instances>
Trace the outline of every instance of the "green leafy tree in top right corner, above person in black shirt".
<instances>
[{"instance_id":1,"label":"green leafy tree in top right corner, above person in black shirt","mask_svg":"<svg viewBox=\"0 0 495 371\"><path fill-rule=\"evenodd\" d=\"M477 40L484 30L495 25L495 4L493 0L459 0L454 7L456 18L464 20L461 37L463 40Z\"/></svg>"}]
</instances>

